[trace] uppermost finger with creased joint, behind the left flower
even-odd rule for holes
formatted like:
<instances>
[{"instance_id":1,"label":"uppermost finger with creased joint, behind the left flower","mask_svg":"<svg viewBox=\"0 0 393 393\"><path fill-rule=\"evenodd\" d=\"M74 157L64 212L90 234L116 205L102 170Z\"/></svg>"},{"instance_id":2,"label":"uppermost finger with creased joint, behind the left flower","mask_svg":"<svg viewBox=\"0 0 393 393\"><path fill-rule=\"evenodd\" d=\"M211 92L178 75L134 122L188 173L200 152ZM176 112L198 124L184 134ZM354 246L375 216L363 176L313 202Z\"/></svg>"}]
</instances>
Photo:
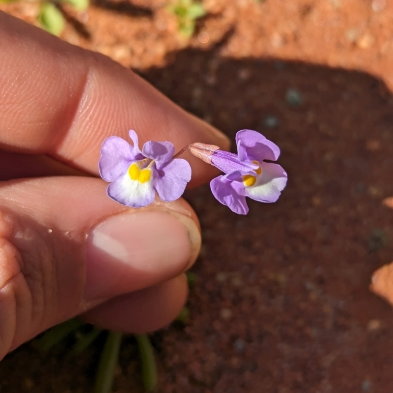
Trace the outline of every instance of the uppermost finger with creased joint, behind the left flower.
<instances>
[{"instance_id":1,"label":"uppermost finger with creased joint, behind the left flower","mask_svg":"<svg viewBox=\"0 0 393 393\"><path fill-rule=\"evenodd\" d=\"M103 140L169 140L227 148L226 137L131 70L0 12L0 146L47 154L92 174ZM188 153L193 183L213 175Z\"/></svg>"}]
</instances>

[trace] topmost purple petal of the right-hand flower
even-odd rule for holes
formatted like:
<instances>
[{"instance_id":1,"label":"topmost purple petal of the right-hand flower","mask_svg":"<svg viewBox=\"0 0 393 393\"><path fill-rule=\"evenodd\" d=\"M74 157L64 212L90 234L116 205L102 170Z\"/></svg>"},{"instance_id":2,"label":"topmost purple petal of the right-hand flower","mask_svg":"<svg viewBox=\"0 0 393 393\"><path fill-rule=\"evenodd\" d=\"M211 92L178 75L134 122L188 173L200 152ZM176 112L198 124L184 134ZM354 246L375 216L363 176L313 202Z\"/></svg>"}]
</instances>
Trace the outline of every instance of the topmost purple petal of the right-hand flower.
<instances>
[{"instance_id":1,"label":"topmost purple petal of the right-hand flower","mask_svg":"<svg viewBox=\"0 0 393 393\"><path fill-rule=\"evenodd\" d=\"M253 130L241 130L236 134L237 153L241 161L276 161L280 148L263 135Z\"/></svg>"}]
</instances>

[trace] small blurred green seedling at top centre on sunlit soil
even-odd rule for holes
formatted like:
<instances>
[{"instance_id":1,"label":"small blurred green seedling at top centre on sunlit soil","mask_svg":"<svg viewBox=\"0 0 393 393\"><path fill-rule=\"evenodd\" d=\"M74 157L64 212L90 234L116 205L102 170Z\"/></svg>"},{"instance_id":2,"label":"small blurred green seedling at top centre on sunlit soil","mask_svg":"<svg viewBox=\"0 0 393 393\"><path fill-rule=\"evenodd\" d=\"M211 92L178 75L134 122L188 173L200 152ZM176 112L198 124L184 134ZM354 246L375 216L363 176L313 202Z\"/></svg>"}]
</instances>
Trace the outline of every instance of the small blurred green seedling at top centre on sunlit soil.
<instances>
[{"instance_id":1,"label":"small blurred green seedling at top centre on sunlit soil","mask_svg":"<svg viewBox=\"0 0 393 393\"><path fill-rule=\"evenodd\" d=\"M194 0L177 0L168 10L176 16L179 32L185 38L194 34L196 20L206 15L203 5Z\"/></svg>"}]
</instances>

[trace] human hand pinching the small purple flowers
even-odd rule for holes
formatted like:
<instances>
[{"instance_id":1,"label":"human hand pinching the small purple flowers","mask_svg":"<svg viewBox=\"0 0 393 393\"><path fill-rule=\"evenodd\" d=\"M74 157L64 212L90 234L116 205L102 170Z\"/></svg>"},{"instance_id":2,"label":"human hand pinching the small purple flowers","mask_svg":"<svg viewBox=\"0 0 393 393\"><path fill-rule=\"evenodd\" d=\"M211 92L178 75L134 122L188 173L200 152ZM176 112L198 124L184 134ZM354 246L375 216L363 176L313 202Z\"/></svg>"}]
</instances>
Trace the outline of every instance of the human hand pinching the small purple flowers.
<instances>
[{"instance_id":1,"label":"human hand pinching the small purple flowers","mask_svg":"<svg viewBox=\"0 0 393 393\"><path fill-rule=\"evenodd\" d=\"M228 147L130 70L0 12L0 359L83 314L131 333L168 324L200 229L182 199L130 209L97 178L107 137ZM191 185L215 172L189 153ZM74 174L74 176L72 176Z\"/></svg>"}]
</instances>

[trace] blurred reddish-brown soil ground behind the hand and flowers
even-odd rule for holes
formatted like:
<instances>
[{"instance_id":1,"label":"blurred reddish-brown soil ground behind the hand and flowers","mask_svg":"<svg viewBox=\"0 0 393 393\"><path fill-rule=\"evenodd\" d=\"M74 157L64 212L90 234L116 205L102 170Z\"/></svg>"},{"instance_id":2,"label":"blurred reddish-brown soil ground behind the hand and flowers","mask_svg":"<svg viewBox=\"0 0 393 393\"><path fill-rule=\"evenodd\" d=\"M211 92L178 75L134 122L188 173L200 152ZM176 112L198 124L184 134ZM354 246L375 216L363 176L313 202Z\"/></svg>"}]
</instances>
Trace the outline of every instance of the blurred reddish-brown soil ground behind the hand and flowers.
<instances>
[{"instance_id":1,"label":"blurred reddish-brown soil ground behind the hand and flowers","mask_svg":"<svg viewBox=\"0 0 393 393\"><path fill-rule=\"evenodd\" d=\"M49 5L48 5L49 4ZM0 9L132 68L223 130L281 148L288 185L248 216L208 186L187 315L152 335L160 393L392 393L393 310L369 291L393 260L393 2L13 1ZM49 10L49 11L48 11ZM100 337L0 364L0 392L83 393ZM113 392L143 392L124 337Z\"/></svg>"}]
</instances>

